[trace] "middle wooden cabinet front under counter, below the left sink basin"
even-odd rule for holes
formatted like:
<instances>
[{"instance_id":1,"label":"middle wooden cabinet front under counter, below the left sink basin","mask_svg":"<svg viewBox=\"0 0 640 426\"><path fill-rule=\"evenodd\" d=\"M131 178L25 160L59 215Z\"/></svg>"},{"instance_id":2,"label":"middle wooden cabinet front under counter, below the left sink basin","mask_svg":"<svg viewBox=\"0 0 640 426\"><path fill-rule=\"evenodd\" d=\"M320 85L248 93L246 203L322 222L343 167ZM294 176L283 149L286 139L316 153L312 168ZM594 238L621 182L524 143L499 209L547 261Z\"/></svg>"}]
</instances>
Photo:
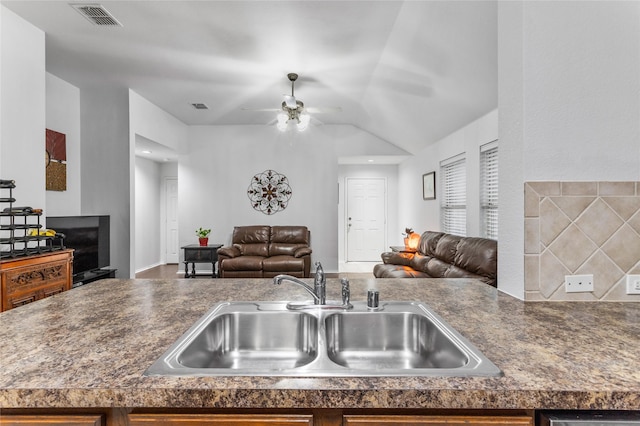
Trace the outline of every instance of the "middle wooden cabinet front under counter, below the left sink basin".
<instances>
[{"instance_id":1,"label":"middle wooden cabinet front under counter, below the left sink basin","mask_svg":"<svg viewBox=\"0 0 640 426\"><path fill-rule=\"evenodd\" d=\"M311 414L130 414L130 426L313 425Z\"/></svg>"}]
</instances>

